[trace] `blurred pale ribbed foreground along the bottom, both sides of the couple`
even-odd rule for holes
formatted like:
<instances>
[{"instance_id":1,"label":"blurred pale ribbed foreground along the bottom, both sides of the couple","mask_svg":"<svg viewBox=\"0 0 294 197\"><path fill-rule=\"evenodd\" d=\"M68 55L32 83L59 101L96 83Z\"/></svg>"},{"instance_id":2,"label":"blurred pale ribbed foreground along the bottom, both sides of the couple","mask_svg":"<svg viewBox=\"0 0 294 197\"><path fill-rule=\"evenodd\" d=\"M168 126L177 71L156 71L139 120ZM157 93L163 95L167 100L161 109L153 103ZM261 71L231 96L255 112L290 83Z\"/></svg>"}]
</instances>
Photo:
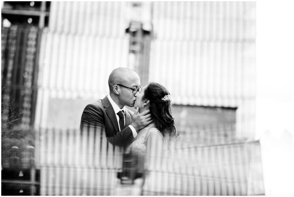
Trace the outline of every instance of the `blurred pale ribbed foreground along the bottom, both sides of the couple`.
<instances>
[{"instance_id":1,"label":"blurred pale ribbed foreground along the bottom, both sides of the couple","mask_svg":"<svg viewBox=\"0 0 294 197\"><path fill-rule=\"evenodd\" d=\"M168 143L136 193L117 178L123 149L108 143L103 131L39 129L34 150L39 195L264 195L259 141L199 144L191 139L197 135L201 141L201 135L192 130Z\"/></svg>"}]
</instances>

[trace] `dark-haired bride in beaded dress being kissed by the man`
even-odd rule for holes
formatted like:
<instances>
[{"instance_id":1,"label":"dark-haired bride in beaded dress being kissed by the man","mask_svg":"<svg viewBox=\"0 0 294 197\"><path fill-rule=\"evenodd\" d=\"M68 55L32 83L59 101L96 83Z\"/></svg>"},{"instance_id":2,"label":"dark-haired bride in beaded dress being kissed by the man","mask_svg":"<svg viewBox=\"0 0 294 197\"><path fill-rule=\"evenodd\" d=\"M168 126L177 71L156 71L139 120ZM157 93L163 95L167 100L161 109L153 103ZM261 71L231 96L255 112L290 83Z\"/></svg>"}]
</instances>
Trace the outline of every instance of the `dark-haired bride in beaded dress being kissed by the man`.
<instances>
[{"instance_id":1,"label":"dark-haired bride in beaded dress being kissed by the man","mask_svg":"<svg viewBox=\"0 0 294 197\"><path fill-rule=\"evenodd\" d=\"M150 82L143 87L137 95L134 107L139 108L139 113L149 109L153 117L153 123L140 130L127 148L127 152L136 161L135 185L142 187L148 171L160 170L166 143L179 134L171 115L171 95L161 84Z\"/></svg>"}]
</instances>

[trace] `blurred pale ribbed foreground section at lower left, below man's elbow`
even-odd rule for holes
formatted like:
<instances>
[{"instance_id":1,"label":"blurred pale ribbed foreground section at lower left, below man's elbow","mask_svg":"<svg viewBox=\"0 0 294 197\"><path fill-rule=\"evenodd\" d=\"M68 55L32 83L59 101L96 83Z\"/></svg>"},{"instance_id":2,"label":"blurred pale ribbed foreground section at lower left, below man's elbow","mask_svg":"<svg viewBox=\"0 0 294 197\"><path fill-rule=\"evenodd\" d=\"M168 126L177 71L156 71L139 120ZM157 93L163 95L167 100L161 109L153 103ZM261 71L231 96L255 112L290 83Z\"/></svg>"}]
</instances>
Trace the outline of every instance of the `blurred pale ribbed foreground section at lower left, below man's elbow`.
<instances>
[{"instance_id":1,"label":"blurred pale ribbed foreground section at lower left, below man's elbow","mask_svg":"<svg viewBox=\"0 0 294 197\"><path fill-rule=\"evenodd\" d=\"M112 195L121 170L122 149L99 130L41 129L36 159L41 170L41 195Z\"/></svg>"}]
</instances>

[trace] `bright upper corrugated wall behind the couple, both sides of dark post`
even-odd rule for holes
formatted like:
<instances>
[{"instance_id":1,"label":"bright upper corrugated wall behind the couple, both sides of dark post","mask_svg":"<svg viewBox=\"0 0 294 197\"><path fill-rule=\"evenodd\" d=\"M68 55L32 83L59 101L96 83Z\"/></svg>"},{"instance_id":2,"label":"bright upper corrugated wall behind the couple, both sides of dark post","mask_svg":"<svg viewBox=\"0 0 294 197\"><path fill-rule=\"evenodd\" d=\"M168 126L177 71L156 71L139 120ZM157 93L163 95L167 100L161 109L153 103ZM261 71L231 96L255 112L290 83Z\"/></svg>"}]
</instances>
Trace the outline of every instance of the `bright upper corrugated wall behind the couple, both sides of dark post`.
<instances>
[{"instance_id":1,"label":"bright upper corrugated wall behind the couple, both sides of dark post","mask_svg":"<svg viewBox=\"0 0 294 197\"><path fill-rule=\"evenodd\" d=\"M237 107L237 137L254 138L255 2L152 7L148 81L166 86L174 104ZM50 99L108 94L109 73L129 66L127 10L125 2L52 2L40 49L36 126L46 126Z\"/></svg>"}]
</instances>

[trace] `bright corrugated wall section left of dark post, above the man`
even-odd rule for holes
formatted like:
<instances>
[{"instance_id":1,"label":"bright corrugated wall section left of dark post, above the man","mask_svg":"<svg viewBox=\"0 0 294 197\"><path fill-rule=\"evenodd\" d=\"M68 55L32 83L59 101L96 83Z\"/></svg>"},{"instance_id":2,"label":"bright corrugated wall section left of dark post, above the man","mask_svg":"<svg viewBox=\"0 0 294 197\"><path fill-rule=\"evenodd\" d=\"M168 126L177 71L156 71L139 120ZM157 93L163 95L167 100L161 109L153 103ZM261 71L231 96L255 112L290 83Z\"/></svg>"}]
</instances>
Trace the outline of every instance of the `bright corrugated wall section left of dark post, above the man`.
<instances>
[{"instance_id":1,"label":"bright corrugated wall section left of dark post, above the man","mask_svg":"<svg viewBox=\"0 0 294 197\"><path fill-rule=\"evenodd\" d=\"M50 99L93 102L108 94L110 72L128 67L123 8L124 2L51 2L40 49L36 126L48 126Z\"/></svg>"}]
</instances>

